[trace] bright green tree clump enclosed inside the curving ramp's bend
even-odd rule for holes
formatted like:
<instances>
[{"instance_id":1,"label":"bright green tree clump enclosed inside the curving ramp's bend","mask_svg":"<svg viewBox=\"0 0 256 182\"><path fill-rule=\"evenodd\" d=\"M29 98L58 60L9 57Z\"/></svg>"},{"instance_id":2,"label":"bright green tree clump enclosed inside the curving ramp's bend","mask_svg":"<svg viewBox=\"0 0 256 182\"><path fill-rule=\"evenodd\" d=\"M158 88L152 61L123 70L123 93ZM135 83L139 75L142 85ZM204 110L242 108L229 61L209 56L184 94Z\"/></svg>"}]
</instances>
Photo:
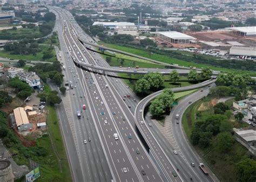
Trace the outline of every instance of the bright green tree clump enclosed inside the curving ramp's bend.
<instances>
[{"instance_id":1,"label":"bright green tree clump enclosed inside the curving ramp's bend","mask_svg":"<svg viewBox=\"0 0 256 182\"><path fill-rule=\"evenodd\" d=\"M159 117L170 110L173 103L173 91L164 89L163 92L155 98L149 106L149 111L154 117Z\"/></svg>"}]
</instances>

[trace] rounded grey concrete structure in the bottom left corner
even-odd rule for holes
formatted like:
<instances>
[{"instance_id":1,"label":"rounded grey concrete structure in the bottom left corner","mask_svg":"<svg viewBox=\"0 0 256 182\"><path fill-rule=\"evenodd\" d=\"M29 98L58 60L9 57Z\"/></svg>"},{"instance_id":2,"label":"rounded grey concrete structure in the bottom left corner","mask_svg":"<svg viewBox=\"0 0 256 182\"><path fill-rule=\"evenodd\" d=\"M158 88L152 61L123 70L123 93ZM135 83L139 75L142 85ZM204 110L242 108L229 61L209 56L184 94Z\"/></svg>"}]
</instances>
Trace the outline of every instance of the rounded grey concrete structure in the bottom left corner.
<instances>
[{"instance_id":1,"label":"rounded grey concrete structure in the bottom left corner","mask_svg":"<svg viewBox=\"0 0 256 182\"><path fill-rule=\"evenodd\" d=\"M14 182L14 174L9 160L0 160L0 181Z\"/></svg>"}]
</instances>

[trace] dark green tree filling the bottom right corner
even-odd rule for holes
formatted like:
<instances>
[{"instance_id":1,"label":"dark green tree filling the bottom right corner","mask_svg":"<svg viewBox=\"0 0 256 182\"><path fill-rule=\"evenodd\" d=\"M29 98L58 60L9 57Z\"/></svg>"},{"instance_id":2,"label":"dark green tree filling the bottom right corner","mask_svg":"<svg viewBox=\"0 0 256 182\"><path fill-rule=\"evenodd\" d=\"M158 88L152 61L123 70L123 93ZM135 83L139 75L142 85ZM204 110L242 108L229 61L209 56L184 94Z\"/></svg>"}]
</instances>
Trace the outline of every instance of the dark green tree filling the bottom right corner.
<instances>
[{"instance_id":1,"label":"dark green tree filling the bottom right corner","mask_svg":"<svg viewBox=\"0 0 256 182\"><path fill-rule=\"evenodd\" d=\"M256 161L245 158L239 161L235 166L239 181L255 182L256 180Z\"/></svg>"}]
</instances>

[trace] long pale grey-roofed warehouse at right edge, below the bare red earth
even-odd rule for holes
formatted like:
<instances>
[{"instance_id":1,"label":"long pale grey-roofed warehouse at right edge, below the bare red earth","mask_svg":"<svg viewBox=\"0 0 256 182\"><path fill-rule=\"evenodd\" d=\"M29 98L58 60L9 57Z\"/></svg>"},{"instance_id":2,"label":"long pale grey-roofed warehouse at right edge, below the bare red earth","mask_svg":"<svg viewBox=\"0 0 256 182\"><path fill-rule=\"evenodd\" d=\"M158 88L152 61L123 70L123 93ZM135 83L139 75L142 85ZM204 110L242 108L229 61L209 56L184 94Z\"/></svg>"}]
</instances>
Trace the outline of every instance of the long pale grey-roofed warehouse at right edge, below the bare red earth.
<instances>
[{"instance_id":1,"label":"long pale grey-roofed warehouse at right edge, below the bare red earth","mask_svg":"<svg viewBox=\"0 0 256 182\"><path fill-rule=\"evenodd\" d=\"M230 48L230 55L256 57L256 48L249 46L232 46Z\"/></svg>"}]
</instances>

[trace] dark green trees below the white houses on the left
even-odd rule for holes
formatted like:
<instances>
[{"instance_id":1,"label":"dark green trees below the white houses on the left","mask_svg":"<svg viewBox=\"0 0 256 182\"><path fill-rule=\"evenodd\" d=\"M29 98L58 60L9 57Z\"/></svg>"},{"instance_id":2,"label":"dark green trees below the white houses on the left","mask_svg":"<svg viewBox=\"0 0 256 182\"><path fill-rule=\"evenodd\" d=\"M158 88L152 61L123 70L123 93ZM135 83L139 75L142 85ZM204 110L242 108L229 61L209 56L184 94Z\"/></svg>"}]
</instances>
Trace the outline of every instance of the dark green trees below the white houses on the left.
<instances>
[{"instance_id":1,"label":"dark green trees below the white houses on the left","mask_svg":"<svg viewBox=\"0 0 256 182\"><path fill-rule=\"evenodd\" d=\"M17 96L21 99L25 99L31 96L31 93L34 92L32 87L18 78L11 78L8 82L8 85L15 88Z\"/></svg>"}]
</instances>

